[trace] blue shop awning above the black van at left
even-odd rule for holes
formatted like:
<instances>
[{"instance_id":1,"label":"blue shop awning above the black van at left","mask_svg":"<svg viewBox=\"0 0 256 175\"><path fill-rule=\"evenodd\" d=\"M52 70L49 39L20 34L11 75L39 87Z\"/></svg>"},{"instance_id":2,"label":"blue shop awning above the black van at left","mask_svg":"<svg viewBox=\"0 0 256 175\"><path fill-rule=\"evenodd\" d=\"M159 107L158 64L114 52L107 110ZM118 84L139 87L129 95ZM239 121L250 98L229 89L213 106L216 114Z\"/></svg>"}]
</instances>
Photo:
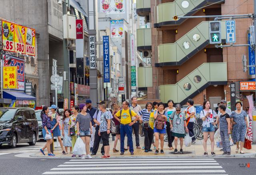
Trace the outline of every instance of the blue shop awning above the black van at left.
<instances>
[{"instance_id":1,"label":"blue shop awning above the black van at left","mask_svg":"<svg viewBox=\"0 0 256 175\"><path fill-rule=\"evenodd\" d=\"M34 100L34 101L36 101L36 97L28 95L24 92L17 92L17 91L4 91L3 97L9 98L12 100Z\"/></svg>"}]
</instances>

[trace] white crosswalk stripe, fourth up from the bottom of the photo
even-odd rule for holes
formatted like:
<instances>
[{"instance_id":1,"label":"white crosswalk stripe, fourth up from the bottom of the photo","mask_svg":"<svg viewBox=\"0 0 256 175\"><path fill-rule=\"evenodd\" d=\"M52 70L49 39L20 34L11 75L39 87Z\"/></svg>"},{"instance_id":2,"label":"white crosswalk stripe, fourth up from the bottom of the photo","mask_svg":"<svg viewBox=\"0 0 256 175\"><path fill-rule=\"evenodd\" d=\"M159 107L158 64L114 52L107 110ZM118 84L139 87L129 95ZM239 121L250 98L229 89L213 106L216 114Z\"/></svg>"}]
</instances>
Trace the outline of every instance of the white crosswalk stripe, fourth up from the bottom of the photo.
<instances>
[{"instance_id":1,"label":"white crosswalk stripe, fourth up from the bottom of the photo","mask_svg":"<svg viewBox=\"0 0 256 175\"><path fill-rule=\"evenodd\" d=\"M194 163L194 162L205 162L205 160L194 160L194 161L186 161L186 160L183 160L183 161L158 161L157 159L155 160L157 161L157 163L188 163L188 162L191 162L191 163ZM88 162L84 162L84 161L68 161L68 162L65 162L64 164L82 164L82 163L89 163L89 164L92 164L94 163L109 163L109 161L94 161L94 160L91 160L91 161L88 161ZM209 160L207 162L216 162L215 160ZM142 161L128 161L128 162L124 162L124 161L114 161L113 163L142 163Z\"/></svg>"}]
</instances>

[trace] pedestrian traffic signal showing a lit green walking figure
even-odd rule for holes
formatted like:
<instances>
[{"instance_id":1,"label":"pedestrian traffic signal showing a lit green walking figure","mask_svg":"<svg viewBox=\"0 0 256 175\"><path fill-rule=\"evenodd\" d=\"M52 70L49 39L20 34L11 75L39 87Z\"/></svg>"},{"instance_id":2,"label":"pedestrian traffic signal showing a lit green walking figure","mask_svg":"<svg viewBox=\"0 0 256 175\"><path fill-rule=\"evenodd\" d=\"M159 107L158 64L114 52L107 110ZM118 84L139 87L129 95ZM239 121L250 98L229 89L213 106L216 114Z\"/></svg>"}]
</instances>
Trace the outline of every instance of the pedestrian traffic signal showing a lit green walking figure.
<instances>
[{"instance_id":1,"label":"pedestrian traffic signal showing a lit green walking figure","mask_svg":"<svg viewBox=\"0 0 256 175\"><path fill-rule=\"evenodd\" d=\"M221 26L220 22L210 22L209 23L209 39L210 44L220 44L221 43Z\"/></svg>"}]
</instances>

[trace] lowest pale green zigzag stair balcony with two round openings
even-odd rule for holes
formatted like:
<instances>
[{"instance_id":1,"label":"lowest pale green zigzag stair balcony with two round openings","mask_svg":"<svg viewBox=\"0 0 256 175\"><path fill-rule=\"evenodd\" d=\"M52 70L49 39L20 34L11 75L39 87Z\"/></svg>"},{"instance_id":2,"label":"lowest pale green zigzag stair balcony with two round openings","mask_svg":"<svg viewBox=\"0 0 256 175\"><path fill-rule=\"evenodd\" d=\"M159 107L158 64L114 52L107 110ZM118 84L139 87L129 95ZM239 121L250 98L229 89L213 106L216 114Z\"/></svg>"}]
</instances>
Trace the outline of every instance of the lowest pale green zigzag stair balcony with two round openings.
<instances>
[{"instance_id":1,"label":"lowest pale green zigzag stair balcony with two round openings","mask_svg":"<svg viewBox=\"0 0 256 175\"><path fill-rule=\"evenodd\" d=\"M209 85L227 84L227 63L203 63L174 85L160 86L160 99L185 104Z\"/></svg>"}]
</instances>

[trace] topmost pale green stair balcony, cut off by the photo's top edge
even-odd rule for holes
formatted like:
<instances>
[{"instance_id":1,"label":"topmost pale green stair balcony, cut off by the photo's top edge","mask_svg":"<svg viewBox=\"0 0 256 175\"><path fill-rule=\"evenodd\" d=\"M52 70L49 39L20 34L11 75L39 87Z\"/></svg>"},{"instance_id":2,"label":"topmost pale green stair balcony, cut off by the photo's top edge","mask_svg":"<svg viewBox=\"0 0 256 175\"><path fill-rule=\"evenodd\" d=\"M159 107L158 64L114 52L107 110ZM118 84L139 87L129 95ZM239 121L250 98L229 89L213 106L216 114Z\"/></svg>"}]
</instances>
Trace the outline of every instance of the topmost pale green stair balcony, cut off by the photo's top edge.
<instances>
[{"instance_id":1,"label":"topmost pale green stair balcony, cut off by the photo's top edge","mask_svg":"<svg viewBox=\"0 0 256 175\"><path fill-rule=\"evenodd\" d=\"M174 20L174 16L192 16L200 10L198 8L216 2L222 3L225 0L175 0L174 2L159 4L156 7L157 16L154 28L166 25L179 25L186 19Z\"/></svg>"}]
</instances>

